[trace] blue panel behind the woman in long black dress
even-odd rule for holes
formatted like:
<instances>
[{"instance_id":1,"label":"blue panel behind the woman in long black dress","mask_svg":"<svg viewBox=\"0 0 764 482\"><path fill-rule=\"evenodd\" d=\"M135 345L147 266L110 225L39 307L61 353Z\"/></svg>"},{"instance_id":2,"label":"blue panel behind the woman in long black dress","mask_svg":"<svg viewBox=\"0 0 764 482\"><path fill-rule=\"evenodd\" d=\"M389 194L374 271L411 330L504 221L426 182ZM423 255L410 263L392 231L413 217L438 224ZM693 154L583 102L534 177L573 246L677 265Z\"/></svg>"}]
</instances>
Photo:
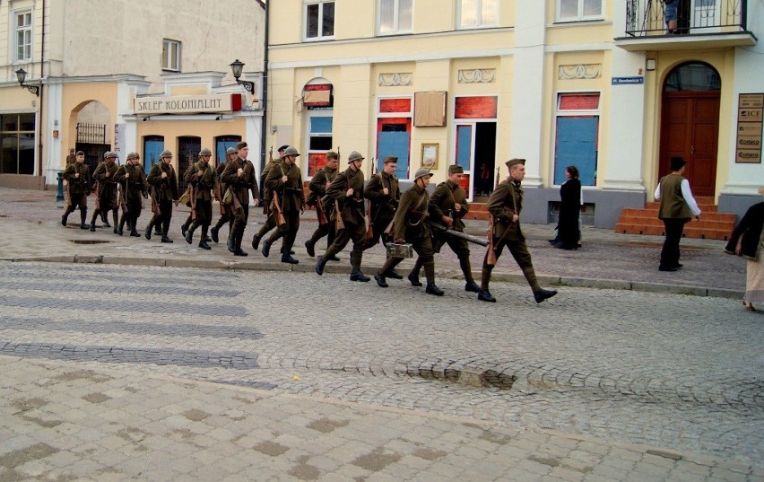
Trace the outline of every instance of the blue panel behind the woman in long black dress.
<instances>
[{"instance_id":1,"label":"blue panel behind the woman in long black dress","mask_svg":"<svg viewBox=\"0 0 764 482\"><path fill-rule=\"evenodd\" d=\"M558 117L554 149L554 183L567 179L565 168L578 168L583 186L595 186L597 177L597 130L599 116Z\"/></svg>"}]
</instances>

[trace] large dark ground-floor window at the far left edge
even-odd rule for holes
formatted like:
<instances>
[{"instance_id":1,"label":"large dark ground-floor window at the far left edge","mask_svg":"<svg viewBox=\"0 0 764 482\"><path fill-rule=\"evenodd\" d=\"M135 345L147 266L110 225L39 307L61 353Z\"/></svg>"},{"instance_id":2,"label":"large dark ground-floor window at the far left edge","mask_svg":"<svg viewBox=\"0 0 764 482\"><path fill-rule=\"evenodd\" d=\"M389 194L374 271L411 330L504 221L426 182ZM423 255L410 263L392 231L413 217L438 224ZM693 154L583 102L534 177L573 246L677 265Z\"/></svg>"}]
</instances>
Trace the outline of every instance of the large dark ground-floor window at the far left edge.
<instances>
[{"instance_id":1,"label":"large dark ground-floor window at the far left edge","mask_svg":"<svg viewBox=\"0 0 764 482\"><path fill-rule=\"evenodd\" d=\"M0 116L0 173L34 174L34 114Z\"/></svg>"}]
</instances>

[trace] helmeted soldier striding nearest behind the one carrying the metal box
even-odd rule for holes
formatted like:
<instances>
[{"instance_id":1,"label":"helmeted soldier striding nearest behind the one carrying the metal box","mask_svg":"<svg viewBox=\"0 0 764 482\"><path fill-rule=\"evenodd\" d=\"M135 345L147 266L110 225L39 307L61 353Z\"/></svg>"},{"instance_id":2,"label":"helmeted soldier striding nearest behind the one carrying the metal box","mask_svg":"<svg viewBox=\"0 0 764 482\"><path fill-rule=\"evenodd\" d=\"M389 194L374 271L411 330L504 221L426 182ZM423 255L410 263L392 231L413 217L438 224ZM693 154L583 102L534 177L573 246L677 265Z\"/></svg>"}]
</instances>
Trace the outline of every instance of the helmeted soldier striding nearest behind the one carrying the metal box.
<instances>
[{"instance_id":1,"label":"helmeted soldier striding nearest behind the one carrying the metal box","mask_svg":"<svg viewBox=\"0 0 764 482\"><path fill-rule=\"evenodd\" d=\"M363 213L363 172L360 166L363 156L353 151L348 156L348 168L337 176L326 189L326 196L337 201L339 209L334 209L332 219L336 222L339 216L344 228L338 230L334 242L326 249L324 256L316 260L316 273L324 274L326 261L343 250L348 241L352 240L351 281L369 281L369 276L360 272L360 261L363 259L363 248L366 245L366 223Z\"/></svg>"}]
</instances>

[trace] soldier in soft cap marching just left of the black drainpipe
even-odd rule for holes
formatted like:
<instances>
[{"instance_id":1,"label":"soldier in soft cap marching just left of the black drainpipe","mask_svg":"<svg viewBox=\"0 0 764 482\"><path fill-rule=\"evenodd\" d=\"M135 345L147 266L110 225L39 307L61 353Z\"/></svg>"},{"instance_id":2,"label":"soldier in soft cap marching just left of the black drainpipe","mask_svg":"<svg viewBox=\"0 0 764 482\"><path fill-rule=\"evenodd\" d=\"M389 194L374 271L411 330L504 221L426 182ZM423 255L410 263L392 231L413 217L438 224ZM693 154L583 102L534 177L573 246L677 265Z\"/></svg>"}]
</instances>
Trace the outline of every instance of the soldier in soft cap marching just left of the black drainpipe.
<instances>
[{"instance_id":1,"label":"soldier in soft cap marching just left of the black drainpipe","mask_svg":"<svg viewBox=\"0 0 764 482\"><path fill-rule=\"evenodd\" d=\"M244 229L247 227L249 218L249 191L255 199L255 206L259 203L257 180L255 179L255 166L247 161L249 147L246 142L236 145L236 159L226 162L221 181L231 191L231 214L234 222L228 236L228 250L234 256L247 256L247 252L241 249L241 239L244 237Z\"/></svg>"}]
</instances>

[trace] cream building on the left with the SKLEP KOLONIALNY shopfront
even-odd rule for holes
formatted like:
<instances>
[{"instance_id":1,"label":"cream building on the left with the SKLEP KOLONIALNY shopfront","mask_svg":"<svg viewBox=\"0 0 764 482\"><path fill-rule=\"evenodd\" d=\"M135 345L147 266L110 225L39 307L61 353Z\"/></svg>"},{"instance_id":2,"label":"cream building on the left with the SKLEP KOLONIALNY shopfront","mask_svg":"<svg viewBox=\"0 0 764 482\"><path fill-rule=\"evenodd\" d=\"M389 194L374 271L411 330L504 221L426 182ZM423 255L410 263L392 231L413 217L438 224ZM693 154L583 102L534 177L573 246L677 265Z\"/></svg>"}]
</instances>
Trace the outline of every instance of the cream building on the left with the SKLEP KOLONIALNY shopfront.
<instances>
[{"instance_id":1,"label":"cream building on the left with the SKLEP KOLONIALNY shopfront","mask_svg":"<svg viewBox=\"0 0 764 482\"><path fill-rule=\"evenodd\" d=\"M70 148L137 151L147 170L169 149L182 171L243 139L257 160L264 40L260 0L0 2L0 185L55 185Z\"/></svg>"}]
</instances>

